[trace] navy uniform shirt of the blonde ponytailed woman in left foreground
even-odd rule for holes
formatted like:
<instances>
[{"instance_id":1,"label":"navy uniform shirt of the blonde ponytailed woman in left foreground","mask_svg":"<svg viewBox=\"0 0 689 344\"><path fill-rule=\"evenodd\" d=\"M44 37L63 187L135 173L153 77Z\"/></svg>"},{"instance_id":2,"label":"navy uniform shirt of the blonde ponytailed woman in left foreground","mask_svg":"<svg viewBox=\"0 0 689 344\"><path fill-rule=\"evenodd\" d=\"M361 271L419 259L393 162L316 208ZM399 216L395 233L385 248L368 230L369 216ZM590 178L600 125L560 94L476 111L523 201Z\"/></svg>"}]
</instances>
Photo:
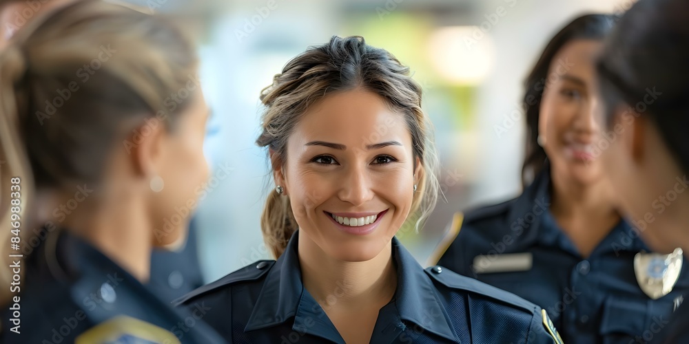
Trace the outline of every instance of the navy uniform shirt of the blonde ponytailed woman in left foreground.
<instances>
[{"instance_id":1,"label":"navy uniform shirt of the blonde ponytailed woman in left foreground","mask_svg":"<svg viewBox=\"0 0 689 344\"><path fill-rule=\"evenodd\" d=\"M200 320L205 305L176 310L82 239L46 232L19 303L3 306L0 343L225 343Z\"/></svg>"}]
</instances>

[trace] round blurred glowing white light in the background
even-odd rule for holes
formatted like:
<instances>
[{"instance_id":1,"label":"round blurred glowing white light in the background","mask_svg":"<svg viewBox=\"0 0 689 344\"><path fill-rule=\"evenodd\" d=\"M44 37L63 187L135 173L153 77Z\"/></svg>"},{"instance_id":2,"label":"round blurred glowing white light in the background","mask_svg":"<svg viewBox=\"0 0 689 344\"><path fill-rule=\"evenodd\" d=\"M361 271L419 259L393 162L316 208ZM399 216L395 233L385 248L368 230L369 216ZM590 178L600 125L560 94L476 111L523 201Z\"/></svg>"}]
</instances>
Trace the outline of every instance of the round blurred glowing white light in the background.
<instances>
[{"instance_id":1,"label":"round blurred glowing white light in the background","mask_svg":"<svg viewBox=\"0 0 689 344\"><path fill-rule=\"evenodd\" d=\"M453 85L478 85L493 67L495 50L489 32L478 26L447 26L431 34L431 65Z\"/></svg>"}]
</instances>

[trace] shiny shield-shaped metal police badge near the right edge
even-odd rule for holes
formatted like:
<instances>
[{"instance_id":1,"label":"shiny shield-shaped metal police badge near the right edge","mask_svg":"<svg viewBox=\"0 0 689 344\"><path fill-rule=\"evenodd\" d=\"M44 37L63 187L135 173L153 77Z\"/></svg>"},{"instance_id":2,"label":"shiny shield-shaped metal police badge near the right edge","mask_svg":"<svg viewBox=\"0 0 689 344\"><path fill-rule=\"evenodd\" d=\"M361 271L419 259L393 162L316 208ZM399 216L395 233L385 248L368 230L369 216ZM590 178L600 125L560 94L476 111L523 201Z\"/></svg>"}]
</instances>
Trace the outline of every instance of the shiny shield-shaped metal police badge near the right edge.
<instances>
[{"instance_id":1,"label":"shiny shield-shaped metal police badge near the right edge","mask_svg":"<svg viewBox=\"0 0 689 344\"><path fill-rule=\"evenodd\" d=\"M641 290L651 299L667 295L675 287L682 270L682 249L669 255L639 252L634 256L634 273Z\"/></svg>"}]
</instances>

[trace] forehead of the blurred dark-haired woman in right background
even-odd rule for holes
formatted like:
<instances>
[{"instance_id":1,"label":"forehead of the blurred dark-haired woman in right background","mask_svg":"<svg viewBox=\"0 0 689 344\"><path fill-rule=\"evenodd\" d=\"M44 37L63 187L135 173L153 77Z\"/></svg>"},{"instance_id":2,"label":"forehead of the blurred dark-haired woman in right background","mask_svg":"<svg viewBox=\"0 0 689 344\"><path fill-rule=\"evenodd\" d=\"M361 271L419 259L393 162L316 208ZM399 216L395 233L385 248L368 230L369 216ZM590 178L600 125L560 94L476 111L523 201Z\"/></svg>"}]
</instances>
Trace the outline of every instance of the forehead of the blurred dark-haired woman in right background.
<instances>
[{"instance_id":1,"label":"forehead of the blurred dark-haired woman in right background","mask_svg":"<svg viewBox=\"0 0 689 344\"><path fill-rule=\"evenodd\" d=\"M590 76L593 74L593 63L601 47L601 41L593 39L575 39L566 43L553 57L550 73Z\"/></svg>"}]
</instances>

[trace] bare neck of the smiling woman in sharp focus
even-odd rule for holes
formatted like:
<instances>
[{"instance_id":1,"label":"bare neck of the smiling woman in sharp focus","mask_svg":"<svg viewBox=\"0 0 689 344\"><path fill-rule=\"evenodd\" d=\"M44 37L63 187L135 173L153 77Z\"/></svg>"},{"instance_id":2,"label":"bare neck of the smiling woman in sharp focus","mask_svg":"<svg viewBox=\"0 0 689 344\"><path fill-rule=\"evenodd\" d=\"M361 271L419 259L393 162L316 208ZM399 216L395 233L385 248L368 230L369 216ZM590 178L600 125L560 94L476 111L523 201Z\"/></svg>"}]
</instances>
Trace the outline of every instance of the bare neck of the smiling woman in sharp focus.
<instances>
[{"instance_id":1,"label":"bare neck of the smiling woman in sharp focus","mask_svg":"<svg viewBox=\"0 0 689 344\"><path fill-rule=\"evenodd\" d=\"M395 294L397 274L389 243L369 261L340 261L329 257L307 235L299 235L302 283L321 307L378 309Z\"/></svg>"}]
</instances>

